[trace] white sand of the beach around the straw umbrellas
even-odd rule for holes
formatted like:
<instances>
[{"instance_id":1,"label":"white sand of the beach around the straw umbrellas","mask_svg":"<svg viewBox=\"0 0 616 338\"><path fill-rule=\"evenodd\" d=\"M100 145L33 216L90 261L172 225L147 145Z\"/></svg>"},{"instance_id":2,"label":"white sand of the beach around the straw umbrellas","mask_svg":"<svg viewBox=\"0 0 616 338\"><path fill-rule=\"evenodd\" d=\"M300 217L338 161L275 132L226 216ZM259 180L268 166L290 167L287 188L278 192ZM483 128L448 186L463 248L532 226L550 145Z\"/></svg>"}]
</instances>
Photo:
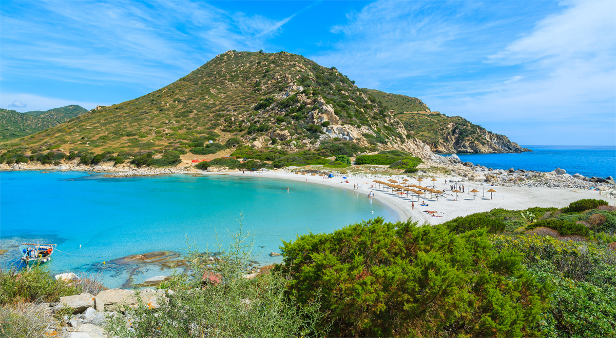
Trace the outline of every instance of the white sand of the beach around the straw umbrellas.
<instances>
[{"instance_id":1,"label":"white sand of the beach around the straw umbrellas","mask_svg":"<svg viewBox=\"0 0 616 338\"><path fill-rule=\"evenodd\" d=\"M226 173L225 173L226 174ZM353 185L359 185L359 189L357 190L359 193L363 193L368 196L370 191L375 193L375 199L378 199L381 203L386 204L391 207L397 214L399 215L400 220L412 219L413 221L418 221L419 223L431 223L438 224L443 223L448 220L455 219L455 217L474 214L476 212L484 212L490 211L496 208L503 208L509 210L524 210L529 207L565 207L568 206L569 203L577 201L578 199L584 198L595 198L595 199L604 199L610 205L616 205L616 199L599 196L598 191L594 190L580 190L580 189L569 189L569 188L534 188L534 187L491 187L485 183L475 183L475 182L461 182L457 184L464 185L465 192L458 193L458 200L454 200L454 196L445 196L445 198L430 198L430 194L426 196L427 207L420 206L421 201L424 201L423 196L418 198L415 195L415 198L411 198L411 195L394 195L391 193L391 188L389 189L389 193L381 186L381 189L378 189L376 183L372 183L373 180L378 179L382 181L386 181L390 179L389 176L383 177L375 177L370 175L370 179L368 179L367 175L362 176L353 176L346 175L347 179L343 180L342 176L333 177L331 179L322 179L322 176L312 176L310 174L307 175L296 175L290 172L286 172L284 170L277 171L267 171L264 173L251 173L246 171L245 174L241 172L231 172L229 175L245 175L245 176L254 176L254 177L270 177L273 179L286 179L286 180L295 180L301 182L309 182L309 183L317 183L329 185L331 187L339 187L343 189L353 189ZM395 180L402 180L404 177L394 177ZM435 188L438 190L444 190L447 188L449 190L450 184L447 182L445 184L445 179L447 181L450 179L448 176L436 176L438 181L435 183ZM349 183L342 183L342 181L349 181ZM415 179L410 179L410 184L419 185ZM421 182L422 185L432 187L432 182L426 180L426 182ZM426 184L428 183L428 184ZM370 186L373 185L374 188ZM485 190L490 190L493 188L496 190L495 193L492 193L492 199L490 199L490 193L485 193L484 196L484 188ZM475 199L473 200L472 189L479 190L480 192L476 194ZM411 202L415 202L415 209L411 210ZM442 217L432 217L424 211L436 211L437 215Z\"/></svg>"}]
</instances>

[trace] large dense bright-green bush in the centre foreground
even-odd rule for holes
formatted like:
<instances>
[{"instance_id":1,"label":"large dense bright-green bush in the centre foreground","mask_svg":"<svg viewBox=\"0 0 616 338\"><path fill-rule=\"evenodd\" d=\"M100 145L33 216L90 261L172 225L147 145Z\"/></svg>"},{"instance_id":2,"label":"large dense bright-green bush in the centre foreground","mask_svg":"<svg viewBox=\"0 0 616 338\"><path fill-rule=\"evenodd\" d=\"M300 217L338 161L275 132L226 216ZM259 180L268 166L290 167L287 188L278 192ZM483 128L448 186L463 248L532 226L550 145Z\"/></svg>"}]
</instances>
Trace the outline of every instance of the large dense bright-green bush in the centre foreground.
<instances>
[{"instance_id":1,"label":"large dense bright-green bush in the centre foreground","mask_svg":"<svg viewBox=\"0 0 616 338\"><path fill-rule=\"evenodd\" d=\"M331 336L537 336L548 297L520 254L491 250L485 229L373 219L285 242L299 304L323 292Z\"/></svg>"}]
</instances>

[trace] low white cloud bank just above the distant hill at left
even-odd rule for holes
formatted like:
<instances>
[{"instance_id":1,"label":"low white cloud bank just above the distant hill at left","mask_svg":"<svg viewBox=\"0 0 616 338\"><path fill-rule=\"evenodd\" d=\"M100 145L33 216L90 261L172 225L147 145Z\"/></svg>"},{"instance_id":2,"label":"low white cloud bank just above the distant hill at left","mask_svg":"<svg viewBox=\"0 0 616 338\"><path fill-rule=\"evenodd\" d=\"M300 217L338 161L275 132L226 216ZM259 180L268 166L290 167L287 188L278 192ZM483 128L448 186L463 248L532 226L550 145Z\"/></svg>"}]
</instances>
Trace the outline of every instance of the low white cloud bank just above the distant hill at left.
<instances>
[{"instance_id":1,"label":"low white cloud bank just above the distant hill at left","mask_svg":"<svg viewBox=\"0 0 616 338\"><path fill-rule=\"evenodd\" d=\"M9 103L10 102L10 103ZM27 103L23 103L27 102ZM17 104L16 104L17 103ZM80 105L88 110L96 108L97 105L109 105L104 102L81 102L78 100L58 99L54 97L41 97L33 94L0 93L0 107L13 109L23 113L32 110L50 110L52 108L65 107L68 105ZM27 108L26 108L27 107Z\"/></svg>"}]
</instances>

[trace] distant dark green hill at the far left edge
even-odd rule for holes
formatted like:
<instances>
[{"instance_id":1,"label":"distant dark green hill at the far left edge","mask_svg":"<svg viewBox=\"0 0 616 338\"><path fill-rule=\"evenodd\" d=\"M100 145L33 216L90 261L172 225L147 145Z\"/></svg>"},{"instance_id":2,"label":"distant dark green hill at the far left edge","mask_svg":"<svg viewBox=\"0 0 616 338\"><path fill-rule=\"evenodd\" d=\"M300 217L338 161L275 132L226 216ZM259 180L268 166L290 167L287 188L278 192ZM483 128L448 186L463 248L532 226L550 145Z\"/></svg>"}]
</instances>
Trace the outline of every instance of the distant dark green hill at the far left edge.
<instances>
[{"instance_id":1,"label":"distant dark green hill at the far left edge","mask_svg":"<svg viewBox=\"0 0 616 338\"><path fill-rule=\"evenodd\" d=\"M78 105L26 113L0 108L0 141L44 131L83 113L87 113L87 109Z\"/></svg>"}]
</instances>

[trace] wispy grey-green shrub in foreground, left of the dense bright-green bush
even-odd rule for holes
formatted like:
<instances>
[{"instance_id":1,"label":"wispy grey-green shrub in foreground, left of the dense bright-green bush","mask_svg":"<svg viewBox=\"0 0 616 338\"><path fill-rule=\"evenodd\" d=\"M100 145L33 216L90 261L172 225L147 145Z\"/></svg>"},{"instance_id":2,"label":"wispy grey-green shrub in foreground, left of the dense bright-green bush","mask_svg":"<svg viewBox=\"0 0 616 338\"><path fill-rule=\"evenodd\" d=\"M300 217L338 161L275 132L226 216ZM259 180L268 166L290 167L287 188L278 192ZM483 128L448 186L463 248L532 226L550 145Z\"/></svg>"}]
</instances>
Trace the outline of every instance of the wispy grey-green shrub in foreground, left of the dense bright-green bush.
<instances>
[{"instance_id":1,"label":"wispy grey-green shrub in foreground, left of the dense bright-green bush","mask_svg":"<svg viewBox=\"0 0 616 338\"><path fill-rule=\"evenodd\" d=\"M115 316L107 327L120 337L314 337L325 336L316 323L322 318L317 297L297 304L286 295L288 280L279 272L265 271L245 278L252 259L253 241L240 225L231 233L231 244L216 244L216 264L208 262L198 247L189 246L192 269L166 282L166 302L152 310L141 302ZM218 283L210 283L215 276ZM130 323L130 324L129 324Z\"/></svg>"}]
</instances>

